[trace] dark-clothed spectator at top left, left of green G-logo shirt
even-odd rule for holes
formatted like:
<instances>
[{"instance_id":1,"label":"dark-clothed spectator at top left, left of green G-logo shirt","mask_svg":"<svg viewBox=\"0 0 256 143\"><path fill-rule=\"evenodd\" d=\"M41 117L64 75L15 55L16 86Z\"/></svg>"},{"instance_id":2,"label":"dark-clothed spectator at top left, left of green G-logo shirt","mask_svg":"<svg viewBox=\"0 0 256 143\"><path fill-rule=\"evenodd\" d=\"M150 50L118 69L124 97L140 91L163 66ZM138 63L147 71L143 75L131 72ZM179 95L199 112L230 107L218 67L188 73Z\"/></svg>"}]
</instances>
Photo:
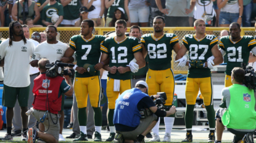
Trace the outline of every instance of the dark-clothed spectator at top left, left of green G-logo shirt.
<instances>
[{"instance_id":1,"label":"dark-clothed spectator at top left, left of green G-logo shirt","mask_svg":"<svg viewBox=\"0 0 256 143\"><path fill-rule=\"evenodd\" d=\"M14 4L14 7L12 7L12 19L18 20L17 17L19 17L19 22L21 24L25 24L25 20L23 20L23 12L22 12L23 2L24 0L16 1ZM18 4L19 4L19 11L17 9ZM36 2L32 0L28 0L28 3L25 2L25 5L26 4L28 4L28 15L26 15L26 18L31 18L33 19L33 23L36 23L40 18L40 13L38 10L38 6L36 5ZM33 15L35 15L35 18L33 17Z\"/></svg>"}]
</instances>

